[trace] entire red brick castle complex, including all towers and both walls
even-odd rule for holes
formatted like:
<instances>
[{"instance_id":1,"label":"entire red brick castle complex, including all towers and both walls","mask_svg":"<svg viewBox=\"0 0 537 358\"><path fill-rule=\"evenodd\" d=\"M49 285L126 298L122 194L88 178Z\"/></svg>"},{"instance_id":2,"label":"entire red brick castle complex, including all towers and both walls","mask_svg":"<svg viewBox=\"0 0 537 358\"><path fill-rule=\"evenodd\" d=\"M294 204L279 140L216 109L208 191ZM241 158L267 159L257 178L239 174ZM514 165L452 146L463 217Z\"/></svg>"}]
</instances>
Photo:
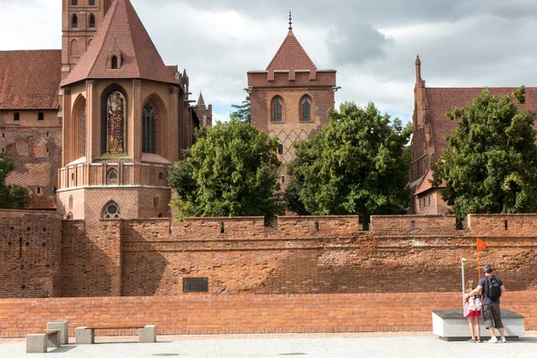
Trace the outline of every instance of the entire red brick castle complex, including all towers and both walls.
<instances>
[{"instance_id":1,"label":"entire red brick castle complex, including all towers and both walls","mask_svg":"<svg viewBox=\"0 0 537 358\"><path fill-rule=\"evenodd\" d=\"M328 123L337 90L289 28L268 68L248 72L251 121L279 139L282 182L292 142ZM464 230L447 215L371 217L369 231L359 217L172 221L167 168L211 107L188 106L188 75L162 62L129 0L64 0L63 30L62 50L0 52L9 181L41 209L0 210L0 337L57 319L150 320L160 334L430 330L430 310L459 308L461 257L477 278L476 236L516 291L503 307L537 328L535 215L473 215ZM416 78L413 212L445 214L427 181L455 125L443 114L481 89L428 89L419 60ZM185 292L200 277L207 291Z\"/></svg>"}]
</instances>

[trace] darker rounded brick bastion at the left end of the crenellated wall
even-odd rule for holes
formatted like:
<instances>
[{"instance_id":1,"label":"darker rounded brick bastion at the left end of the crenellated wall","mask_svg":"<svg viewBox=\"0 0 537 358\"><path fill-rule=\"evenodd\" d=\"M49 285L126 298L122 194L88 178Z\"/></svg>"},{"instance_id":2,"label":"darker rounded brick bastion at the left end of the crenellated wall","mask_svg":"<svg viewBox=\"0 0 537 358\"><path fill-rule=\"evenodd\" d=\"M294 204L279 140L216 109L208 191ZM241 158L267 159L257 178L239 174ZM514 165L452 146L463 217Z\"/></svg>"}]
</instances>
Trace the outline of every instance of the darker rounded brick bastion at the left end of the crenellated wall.
<instances>
[{"instance_id":1,"label":"darker rounded brick bastion at the left end of the crenellated wall","mask_svg":"<svg viewBox=\"0 0 537 358\"><path fill-rule=\"evenodd\" d=\"M60 294L61 217L0 209L0 297Z\"/></svg>"}]
</instances>

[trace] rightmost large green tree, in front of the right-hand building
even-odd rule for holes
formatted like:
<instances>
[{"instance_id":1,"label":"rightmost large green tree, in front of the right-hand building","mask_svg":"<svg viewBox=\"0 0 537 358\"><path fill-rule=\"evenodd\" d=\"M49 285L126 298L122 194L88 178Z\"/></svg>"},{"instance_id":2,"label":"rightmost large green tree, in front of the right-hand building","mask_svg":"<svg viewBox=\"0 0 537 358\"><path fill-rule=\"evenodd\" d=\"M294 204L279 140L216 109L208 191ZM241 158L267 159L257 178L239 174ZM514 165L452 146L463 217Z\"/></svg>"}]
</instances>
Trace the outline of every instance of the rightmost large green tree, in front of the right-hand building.
<instances>
[{"instance_id":1,"label":"rightmost large green tree, in front of the right-hand building","mask_svg":"<svg viewBox=\"0 0 537 358\"><path fill-rule=\"evenodd\" d=\"M524 87L501 98L485 89L471 106L447 113L459 123L431 166L432 184L445 181L442 196L461 219L469 213L537 210L535 114L516 101L524 103Z\"/></svg>"}]
</instances>

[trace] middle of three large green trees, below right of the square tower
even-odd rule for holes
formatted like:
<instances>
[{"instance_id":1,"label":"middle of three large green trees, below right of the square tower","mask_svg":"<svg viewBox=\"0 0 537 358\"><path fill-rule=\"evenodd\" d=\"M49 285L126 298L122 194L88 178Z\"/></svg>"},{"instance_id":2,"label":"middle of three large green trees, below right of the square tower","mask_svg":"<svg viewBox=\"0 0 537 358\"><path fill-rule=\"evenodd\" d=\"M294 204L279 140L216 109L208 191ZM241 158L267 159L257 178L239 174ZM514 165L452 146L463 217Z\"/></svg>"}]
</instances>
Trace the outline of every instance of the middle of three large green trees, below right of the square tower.
<instances>
[{"instance_id":1,"label":"middle of three large green trees, below right of the square tower","mask_svg":"<svg viewBox=\"0 0 537 358\"><path fill-rule=\"evenodd\" d=\"M400 214L408 207L403 156L412 125L390 122L370 103L344 103L328 112L330 123L309 141L295 143L296 156L287 166L292 179L286 207L299 214Z\"/></svg>"}]
</instances>

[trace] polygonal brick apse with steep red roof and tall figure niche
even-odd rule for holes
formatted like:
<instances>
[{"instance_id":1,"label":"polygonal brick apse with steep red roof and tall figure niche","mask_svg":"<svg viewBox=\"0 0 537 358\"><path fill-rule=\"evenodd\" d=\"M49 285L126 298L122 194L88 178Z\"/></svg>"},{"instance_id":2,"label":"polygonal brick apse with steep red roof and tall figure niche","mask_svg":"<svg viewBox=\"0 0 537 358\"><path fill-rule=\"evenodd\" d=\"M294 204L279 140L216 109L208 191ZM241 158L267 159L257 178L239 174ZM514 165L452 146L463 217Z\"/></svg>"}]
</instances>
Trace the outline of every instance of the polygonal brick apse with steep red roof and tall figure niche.
<instances>
[{"instance_id":1,"label":"polygonal brick apse with steep red roof and tall figure niche","mask_svg":"<svg viewBox=\"0 0 537 358\"><path fill-rule=\"evenodd\" d=\"M131 2L112 2L91 46L60 84L58 212L85 220L169 215L167 169L179 158L180 113L188 99L175 75Z\"/></svg>"}]
</instances>

